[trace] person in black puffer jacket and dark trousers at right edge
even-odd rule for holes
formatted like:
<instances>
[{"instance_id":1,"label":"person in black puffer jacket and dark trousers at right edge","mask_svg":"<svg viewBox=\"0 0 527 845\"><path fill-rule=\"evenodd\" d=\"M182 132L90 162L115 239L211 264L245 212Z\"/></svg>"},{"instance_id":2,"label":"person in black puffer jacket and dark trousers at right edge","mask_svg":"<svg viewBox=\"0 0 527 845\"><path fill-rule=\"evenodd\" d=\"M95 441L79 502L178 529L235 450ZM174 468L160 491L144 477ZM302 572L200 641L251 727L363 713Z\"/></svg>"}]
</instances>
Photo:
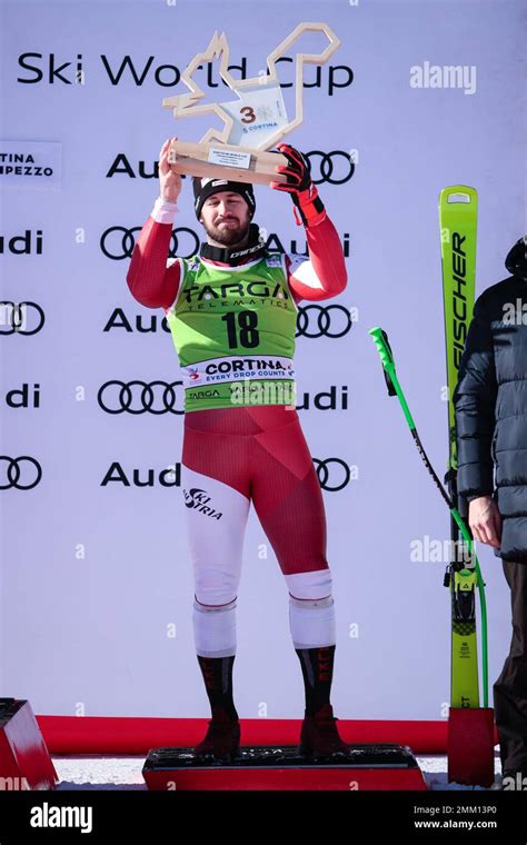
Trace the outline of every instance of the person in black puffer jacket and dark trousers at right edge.
<instances>
[{"instance_id":1,"label":"person in black puffer jacket and dark trousers at right edge","mask_svg":"<svg viewBox=\"0 0 527 845\"><path fill-rule=\"evenodd\" d=\"M527 776L527 236L476 300L454 392L458 494L510 587L513 638L494 685L504 782Z\"/></svg>"}]
</instances>

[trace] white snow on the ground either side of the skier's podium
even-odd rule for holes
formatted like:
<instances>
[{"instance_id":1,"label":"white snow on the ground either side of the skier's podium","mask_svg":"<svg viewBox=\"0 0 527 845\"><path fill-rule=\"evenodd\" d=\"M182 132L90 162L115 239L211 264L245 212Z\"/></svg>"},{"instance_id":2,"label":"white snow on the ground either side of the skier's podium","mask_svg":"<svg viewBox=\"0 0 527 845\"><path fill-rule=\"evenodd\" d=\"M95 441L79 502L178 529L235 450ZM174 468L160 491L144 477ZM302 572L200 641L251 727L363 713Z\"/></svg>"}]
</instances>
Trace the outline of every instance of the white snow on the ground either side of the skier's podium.
<instances>
[{"instance_id":1,"label":"white snow on the ground either side of the skier's podium","mask_svg":"<svg viewBox=\"0 0 527 845\"><path fill-rule=\"evenodd\" d=\"M59 776L58 789L146 789L142 777L143 756L100 757L92 755L53 756ZM440 754L416 757L429 789L484 789L479 786L449 784L447 758ZM496 788L501 779L499 756L495 757ZM484 789L485 791L485 789Z\"/></svg>"}]
</instances>

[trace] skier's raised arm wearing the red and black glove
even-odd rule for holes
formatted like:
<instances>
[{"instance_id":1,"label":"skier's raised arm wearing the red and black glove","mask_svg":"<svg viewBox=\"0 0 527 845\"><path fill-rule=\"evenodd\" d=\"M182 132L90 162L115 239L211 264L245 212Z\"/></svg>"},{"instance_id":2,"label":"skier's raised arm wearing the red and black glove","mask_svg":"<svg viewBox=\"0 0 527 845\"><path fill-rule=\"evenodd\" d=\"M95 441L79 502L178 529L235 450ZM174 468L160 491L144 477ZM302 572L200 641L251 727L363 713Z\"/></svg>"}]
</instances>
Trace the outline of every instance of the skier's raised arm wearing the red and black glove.
<instances>
[{"instance_id":1,"label":"skier's raised arm wearing the red and black glove","mask_svg":"<svg viewBox=\"0 0 527 845\"><path fill-rule=\"evenodd\" d=\"M289 182L270 182L270 187L290 193L297 223L306 227L309 252L309 258L286 255L289 287L296 301L330 299L341 294L348 281L340 239L311 181L309 161L287 143L278 149L288 165L277 171L286 173Z\"/></svg>"}]
</instances>

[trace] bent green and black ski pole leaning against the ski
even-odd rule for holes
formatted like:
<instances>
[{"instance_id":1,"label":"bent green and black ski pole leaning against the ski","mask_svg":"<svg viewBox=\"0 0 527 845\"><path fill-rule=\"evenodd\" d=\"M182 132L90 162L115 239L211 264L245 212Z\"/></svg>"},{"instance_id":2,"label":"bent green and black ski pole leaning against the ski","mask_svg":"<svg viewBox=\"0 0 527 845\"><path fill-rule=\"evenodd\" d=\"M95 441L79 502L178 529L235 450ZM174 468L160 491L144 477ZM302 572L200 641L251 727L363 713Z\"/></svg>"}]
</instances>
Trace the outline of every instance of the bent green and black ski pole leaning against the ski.
<instances>
[{"instance_id":1,"label":"bent green and black ski pole leaning against the ski","mask_svg":"<svg viewBox=\"0 0 527 845\"><path fill-rule=\"evenodd\" d=\"M416 443L417 449L419 451L419 455L421 456L426 468L428 469L430 476L432 477L436 487L438 488L439 493L441 494L446 505L448 506L448 509L450 511L450 515L453 519L456 521L459 533L461 534L461 537L464 538L465 543L467 544L467 549L470 555L470 559L474 561L474 569L476 571L476 583L478 587L478 594L479 594L479 605L480 605L480 612L481 612L481 675L483 675L483 688L484 688L484 706L488 707L488 648L487 648L487 602L485 598L485 581L483 579L481 569L479 567L479 560L477 558L477 555L474 550L474 544L473 539L470 537L470 533L459 514L458 509L454 507L454 503L451 501L450 497L448 496L447 491L445 490L443 484L440 483L434 467L430 464L430 460L422 447L422 444L419 439L419 435L417 433L416 424L414 421L414 417L411 416L410 409L408 407L408 402L406 401L406 397L402 392L402 388L399 384L399 379L397 378L396 372L396 366L394 360L394 354L391 351L391 347L388 341L388 335L384 329L376 327L369 330L369 334L371 335L374 342L377 347L377 351L379 352L380 360L382 364L382 370L385 374L385 380L388 388L388 394L390 396L397 396L399 398L400 406L402 408L402 412L405 415L406 421L408 422L408 427L411 431L411 436ZM461 574L466 573L468 576L469 570L461 570Z\"/></svg>"}]
</instances>

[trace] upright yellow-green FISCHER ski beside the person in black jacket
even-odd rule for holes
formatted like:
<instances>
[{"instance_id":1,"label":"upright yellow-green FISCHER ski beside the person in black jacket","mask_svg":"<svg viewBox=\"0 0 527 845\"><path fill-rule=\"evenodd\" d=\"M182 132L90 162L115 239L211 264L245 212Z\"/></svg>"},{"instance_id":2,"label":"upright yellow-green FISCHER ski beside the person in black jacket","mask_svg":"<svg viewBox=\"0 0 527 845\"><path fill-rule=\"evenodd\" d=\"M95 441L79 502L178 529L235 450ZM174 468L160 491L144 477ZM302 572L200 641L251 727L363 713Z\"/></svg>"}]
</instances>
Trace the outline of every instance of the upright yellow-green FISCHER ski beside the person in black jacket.
<instances>
[{"instance_id":1,"label":"upright yellow-green FISCHER ski beside the person in black jacket","mask_svg":"<svg viewBox=\"0 0 527 845\"><path fill-rule=\"evenodd\" d=\"M445 308L448 385L448 468L445 483L457 510L457 448L453 396L458 380L468 327L473 318L476 286L476 233L478 197L474 188L455 185L439 197L439 225ZM451 598L450 706L479 707L476 587L474 568L466 564L467 548L456 518L450 519L453 555L445 574ZM466 539L466 538L465 538ZM484 706L487 707L486 656Z\"/></svg>"}]
</instances>

